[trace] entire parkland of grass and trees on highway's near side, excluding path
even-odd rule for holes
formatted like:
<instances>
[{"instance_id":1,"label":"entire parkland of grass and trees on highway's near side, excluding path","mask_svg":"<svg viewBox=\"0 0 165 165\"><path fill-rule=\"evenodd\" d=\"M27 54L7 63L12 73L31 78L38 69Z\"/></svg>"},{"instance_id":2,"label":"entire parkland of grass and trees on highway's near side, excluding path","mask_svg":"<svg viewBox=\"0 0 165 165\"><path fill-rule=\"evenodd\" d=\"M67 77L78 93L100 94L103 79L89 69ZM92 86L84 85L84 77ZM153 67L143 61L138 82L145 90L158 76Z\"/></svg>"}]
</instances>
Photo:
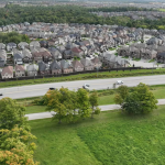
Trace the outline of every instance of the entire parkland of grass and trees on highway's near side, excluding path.
<instances>
[{"instance_id":1,"label":"entire parkland of grass and trees on highway's near side, excluding path","mask_svg":"<svg viewBox=\"0 0 165 165\"><path fill-rule=\"evenodd\" d=\"M7 156L0 162L12 158L9 162L31 161L28 165L37 165L36 162L41 165L164 164L165 106L156 106L156 98L164 98L163 88L164 85L144 84L100 91L61 88L48 90L41 98L3 98L0 100L0 154ZM106 103L114 103L116 98L122 110L100 112L98 105L106 96L111 96ZM15 101L26 106L26 111ZM24 118L24 112L46 109L56 114L32 121ZM9 141L11 145L7 145ZM19 160L11 154L16 154Z\"/></svg>"}]
</instances>

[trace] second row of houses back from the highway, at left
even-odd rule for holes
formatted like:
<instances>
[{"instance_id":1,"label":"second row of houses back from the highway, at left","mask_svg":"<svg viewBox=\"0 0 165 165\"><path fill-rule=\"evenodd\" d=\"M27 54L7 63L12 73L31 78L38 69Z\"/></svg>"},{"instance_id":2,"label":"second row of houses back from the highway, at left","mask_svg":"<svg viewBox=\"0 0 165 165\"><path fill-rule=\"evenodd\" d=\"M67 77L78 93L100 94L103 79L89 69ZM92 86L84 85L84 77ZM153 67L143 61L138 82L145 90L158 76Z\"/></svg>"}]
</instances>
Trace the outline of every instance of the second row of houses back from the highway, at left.
<instances>
[{"instance_id":1,"label":"second row of houses back from the highway, at left","mask_svg":"<svg viewBox=\"0 0 165 165\"><path fill-rule=\"evenodd\" d=\"M6 50L0 50L0 67L3 67L7 64L7 58L9 54L13 57L14 65L22 65L24 63L38 63L38 62L52 62L53 59L68 59L86 56L87 54L94 53L95 47L90 45L89 41L82 41L77 44L68 42L65 45L59 45L57 47L41 47L38 42L33 42L33 46L30 46L30 50L24 47L19 50L12 47L10 53L7 53Z\"/></svg>"}]
</instances>

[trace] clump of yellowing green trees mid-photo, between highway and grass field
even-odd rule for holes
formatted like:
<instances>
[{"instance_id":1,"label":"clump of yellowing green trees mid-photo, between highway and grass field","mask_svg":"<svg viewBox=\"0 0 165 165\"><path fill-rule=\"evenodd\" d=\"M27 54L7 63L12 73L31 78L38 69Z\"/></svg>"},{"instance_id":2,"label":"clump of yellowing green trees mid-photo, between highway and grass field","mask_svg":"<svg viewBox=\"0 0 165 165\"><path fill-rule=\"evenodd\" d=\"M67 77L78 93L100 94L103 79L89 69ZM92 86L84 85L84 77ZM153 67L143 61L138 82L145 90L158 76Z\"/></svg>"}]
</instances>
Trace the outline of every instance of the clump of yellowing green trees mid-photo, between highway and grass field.
<instances>
[{"instance_id":1,"label":"clump of yellowing green trees mid-photo, between highway and grass field","mask_svg":"<svg viewBox=\"0 0 165 165\"><path fill-rule=\"evenodd\" d=\"M54 119L59 123L66 121L74 123L80 119L94 118L95 114L100 113L98 108L98 94L97 91L88 92L86 89L68 90L61 88L48 90L47 94L34 103L40 106L47 106L47 111L54 111Z\"/></svg>"}]
</instances>

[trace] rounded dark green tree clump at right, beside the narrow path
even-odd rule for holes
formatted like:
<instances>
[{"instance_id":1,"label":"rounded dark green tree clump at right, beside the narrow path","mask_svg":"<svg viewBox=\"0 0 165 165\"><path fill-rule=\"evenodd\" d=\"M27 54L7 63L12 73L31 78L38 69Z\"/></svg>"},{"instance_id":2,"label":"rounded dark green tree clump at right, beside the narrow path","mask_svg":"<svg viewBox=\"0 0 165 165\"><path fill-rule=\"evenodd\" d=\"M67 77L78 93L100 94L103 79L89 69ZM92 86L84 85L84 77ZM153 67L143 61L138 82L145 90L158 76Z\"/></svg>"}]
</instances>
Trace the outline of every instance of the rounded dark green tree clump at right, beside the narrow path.
<instances>
[{"instance_id":1,"label":"rounded dark green tree clump at right, beside the narrow path","mask_svg":"<svg viewBox=\"0 0 165 165\"><path fill-rule=\"evenodd\" d=\"M129 91L127 86L121 86L114 97L116 103L130 114L150 113L157 108L157 100L145 84L139 84Z\"/></svg>"}]
</instances>

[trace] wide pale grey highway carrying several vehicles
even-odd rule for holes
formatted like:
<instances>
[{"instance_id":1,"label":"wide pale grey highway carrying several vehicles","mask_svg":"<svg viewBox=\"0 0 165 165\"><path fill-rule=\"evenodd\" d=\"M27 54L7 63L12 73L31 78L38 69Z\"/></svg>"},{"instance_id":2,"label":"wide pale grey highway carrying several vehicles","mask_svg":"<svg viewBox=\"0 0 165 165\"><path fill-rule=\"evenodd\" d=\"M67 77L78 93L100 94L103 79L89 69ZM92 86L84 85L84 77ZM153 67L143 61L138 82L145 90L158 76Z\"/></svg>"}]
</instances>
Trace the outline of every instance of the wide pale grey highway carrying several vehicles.
<instances>
[{"instance_id":1,"label":"wide pale grey highway carrying several vehicles","mask_svg":"<svg viewBox=\"0 0 165 165\"><path fill-rule=\"evenodd\" d=\"M37 97L37 96L45 95L50 87L61 88L63 86L73 90L73 89L78 89L84 84L89 84L90 89L106 89L108 87L112 88L113 84L119 79L123 80L124 85L129 87L136 86L140 82L144 82L147 85L165 84L165 75L77 80L77 81L65 81L65 82L63 81L63 82L21 86L21 87L12 87L12 88L1 88L0 94L2 92L3 96L0 98L10 97L12 99L19 99L19 98L28 98L28 97Z\"/></svg>"}]
</instances>

